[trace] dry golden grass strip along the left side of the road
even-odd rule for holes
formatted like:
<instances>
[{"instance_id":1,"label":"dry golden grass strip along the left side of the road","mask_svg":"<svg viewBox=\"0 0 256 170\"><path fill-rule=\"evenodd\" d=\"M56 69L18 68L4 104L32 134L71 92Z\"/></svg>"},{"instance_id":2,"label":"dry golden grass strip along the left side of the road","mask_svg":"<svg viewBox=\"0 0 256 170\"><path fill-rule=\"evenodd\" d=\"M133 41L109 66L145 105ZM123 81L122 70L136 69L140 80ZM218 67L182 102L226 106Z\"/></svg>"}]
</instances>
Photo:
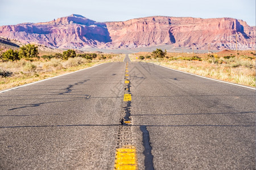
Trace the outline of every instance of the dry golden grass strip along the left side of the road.
<instances>
[{"instance_id":1,"label":"dry golden grass strip along the left side of the road","mask_svg":"<svg viewBox=\"0 0 256 170\"><path fill-rule=\"evenodd\" d=\"M81 57L62 59L37 59L30 62L24 59L15 62L0 62L0 90L36 82L53 76L70 73L104 62L123 61L125 55L111 55L107 59L88 60Z\"/></svg>"}]
</instances>

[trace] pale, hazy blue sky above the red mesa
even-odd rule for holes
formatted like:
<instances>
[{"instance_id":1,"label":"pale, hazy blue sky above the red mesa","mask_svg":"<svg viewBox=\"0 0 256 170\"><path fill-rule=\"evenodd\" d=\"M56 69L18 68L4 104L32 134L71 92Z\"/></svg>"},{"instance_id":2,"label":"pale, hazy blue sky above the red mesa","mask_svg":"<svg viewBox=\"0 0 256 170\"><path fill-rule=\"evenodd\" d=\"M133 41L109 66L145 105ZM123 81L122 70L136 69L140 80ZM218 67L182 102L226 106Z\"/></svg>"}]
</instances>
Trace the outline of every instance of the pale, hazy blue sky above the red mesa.
<instances>
[{"instance_id":1,"label":"pale, hazy blue sky above the red mesa","mask_svg":"<svg viewBox=\"0 0 256 170\"><path fill-rule=\"evenodd\" d=\"M146 16L236 18L255 24L255 0L0 0L0 25L48 22L79 14L97 22Z\"/></svg>"}]
</instances>

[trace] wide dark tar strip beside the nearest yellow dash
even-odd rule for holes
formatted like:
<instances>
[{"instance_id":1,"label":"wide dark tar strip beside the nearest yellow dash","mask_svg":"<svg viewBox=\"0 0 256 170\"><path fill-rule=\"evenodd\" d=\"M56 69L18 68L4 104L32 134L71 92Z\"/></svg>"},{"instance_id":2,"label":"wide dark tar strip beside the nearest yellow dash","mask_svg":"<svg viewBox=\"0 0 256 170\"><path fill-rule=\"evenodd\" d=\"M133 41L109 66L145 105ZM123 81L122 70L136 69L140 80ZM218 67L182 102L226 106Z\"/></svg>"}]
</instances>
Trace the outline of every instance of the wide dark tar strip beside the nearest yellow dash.
<instances>
[{"instance_id":1,"label":"wide dark tar strip beside the nearest yellow dash","mask_svg":"<svg viewBox=\"0 0 256 170\"><path fill-rule=\"evenodd\" d=\"M144 166L146 170L154 170L153 155L151 154L152 147L150 146L150 136L146 126L139 126L142 131L142 142L144 146L143 154L145 156Z\"/></svg>"}]
</instances>

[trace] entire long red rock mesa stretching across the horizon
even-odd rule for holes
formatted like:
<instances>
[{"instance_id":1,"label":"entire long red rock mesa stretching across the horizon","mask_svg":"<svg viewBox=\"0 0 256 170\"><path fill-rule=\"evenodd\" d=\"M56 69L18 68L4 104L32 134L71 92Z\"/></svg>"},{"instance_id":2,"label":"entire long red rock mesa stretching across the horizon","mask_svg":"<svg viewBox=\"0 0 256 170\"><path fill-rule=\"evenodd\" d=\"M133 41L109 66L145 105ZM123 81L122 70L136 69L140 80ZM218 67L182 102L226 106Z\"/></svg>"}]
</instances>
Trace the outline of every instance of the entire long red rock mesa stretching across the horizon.
<instances>
[{"instance_id":1,"label":"entire long red rock mesa stretching across the horizon","mask_svg":"<svg viewBox=\"0 0 256 170\"><path fill-rule=\"evenodd\" d=\"M73 14L46 23L0 27L1 37L59 49L235 49L236 34L238 49L255 49L255 27L233 18L151 16L100 23Z\"/></svg>"}]
</instances>

